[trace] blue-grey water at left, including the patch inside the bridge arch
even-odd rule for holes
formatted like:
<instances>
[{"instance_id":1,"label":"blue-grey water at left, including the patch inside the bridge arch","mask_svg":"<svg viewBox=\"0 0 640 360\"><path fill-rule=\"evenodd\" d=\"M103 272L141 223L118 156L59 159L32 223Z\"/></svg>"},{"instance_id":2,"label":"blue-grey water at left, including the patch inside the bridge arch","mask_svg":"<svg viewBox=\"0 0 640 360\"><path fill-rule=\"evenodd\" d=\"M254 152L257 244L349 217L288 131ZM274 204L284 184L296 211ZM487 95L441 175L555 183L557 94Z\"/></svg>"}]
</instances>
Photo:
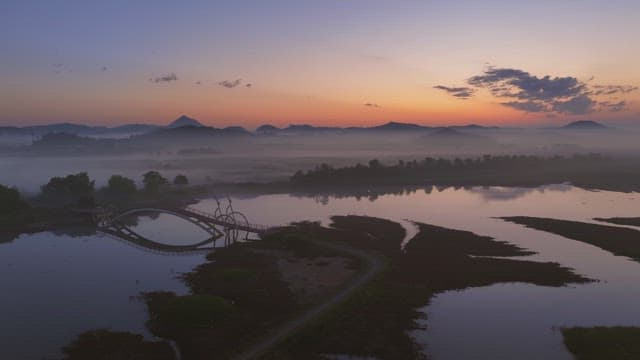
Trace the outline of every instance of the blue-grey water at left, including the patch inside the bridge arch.
<instances>
[{"instance_id":1,"label":"blue-grey water at left, including the patch inside the bridge arch","mask_svg":"<svg viewBox=\"0 0 640 360\"><path fill-rule=\"evenodd\" d=\"M181 245L206 234L161 215L136 230ZM186 293L176 277L204 255L163 255L98 235L22 235L0 243L0 359L60 358L60 347L98 328L150 337L141 292Z\"/></svg>"}]
</instances>

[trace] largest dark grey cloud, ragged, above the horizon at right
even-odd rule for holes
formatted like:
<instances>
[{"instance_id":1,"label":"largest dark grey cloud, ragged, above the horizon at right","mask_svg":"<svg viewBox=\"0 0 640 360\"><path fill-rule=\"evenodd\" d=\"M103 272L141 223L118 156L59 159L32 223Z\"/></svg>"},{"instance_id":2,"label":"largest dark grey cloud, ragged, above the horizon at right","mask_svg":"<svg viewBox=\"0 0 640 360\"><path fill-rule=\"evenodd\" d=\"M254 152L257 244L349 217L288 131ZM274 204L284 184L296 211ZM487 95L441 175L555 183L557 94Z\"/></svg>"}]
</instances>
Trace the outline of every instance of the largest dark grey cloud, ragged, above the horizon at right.
<instances>
[{"instance_id":1,"label":"largest dark grey cloud, ragged, above the horizon at right","mask_svg":"<svg viewBox=\"0 0 640 360\"><path fill-rule=\"evenodd\" d=\"M524 70L489 66L467 80L470 87L435 86L457 98L468 99L477 89L486 89L504 101L503 106L528 113L582 115L595 111L622 111L625 101L606 97L638 90L630 85L590 85L572 76L536 76ZM605 97L605 99L602 99Z\"/></svg>"}]
</instances>

